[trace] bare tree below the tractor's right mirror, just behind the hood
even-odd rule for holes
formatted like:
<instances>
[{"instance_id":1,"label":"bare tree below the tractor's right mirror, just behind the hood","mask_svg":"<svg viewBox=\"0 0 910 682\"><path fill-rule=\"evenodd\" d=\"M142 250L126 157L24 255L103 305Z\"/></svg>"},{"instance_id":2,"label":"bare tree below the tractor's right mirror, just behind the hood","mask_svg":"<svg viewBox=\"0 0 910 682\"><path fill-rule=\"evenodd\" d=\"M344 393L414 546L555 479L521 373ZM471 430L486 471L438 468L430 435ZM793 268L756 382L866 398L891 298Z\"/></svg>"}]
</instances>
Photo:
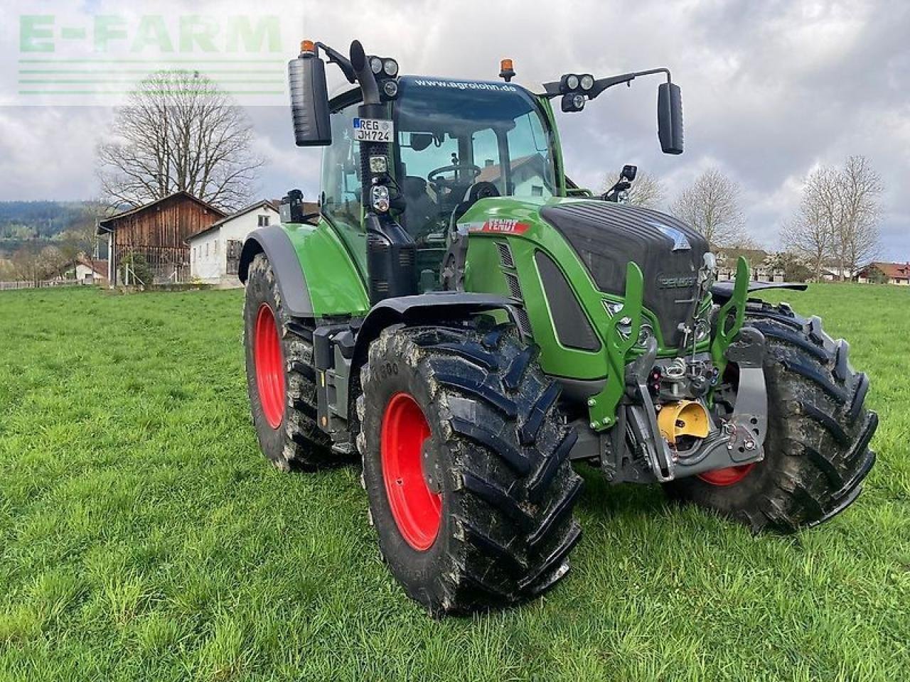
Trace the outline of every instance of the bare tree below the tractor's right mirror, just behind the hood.
<instances>
[{"instance_id":1,"label":"bare tree below the tractor's right mirror, just behind the hood","mask_svg":"<svg viewBox=\"0 0 910 682\"><path fill-rule=\"evenodd\" d=\"M740 186L718 168L708 168L673 201L671 213L701 232L711 246L743 241Z\"/></svg>"}]
</instances>

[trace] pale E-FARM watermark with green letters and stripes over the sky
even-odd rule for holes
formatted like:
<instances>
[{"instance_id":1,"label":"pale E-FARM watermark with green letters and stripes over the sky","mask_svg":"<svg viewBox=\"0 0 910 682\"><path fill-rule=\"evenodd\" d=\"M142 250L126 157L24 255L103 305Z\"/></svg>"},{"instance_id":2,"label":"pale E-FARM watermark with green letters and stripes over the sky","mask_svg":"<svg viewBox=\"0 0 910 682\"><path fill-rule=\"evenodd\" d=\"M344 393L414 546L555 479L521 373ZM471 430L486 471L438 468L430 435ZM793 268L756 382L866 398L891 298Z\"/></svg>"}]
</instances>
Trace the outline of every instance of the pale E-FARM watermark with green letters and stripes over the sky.
<instances>
[{"instance_id":1,"label":"pale E-FARM watermark with green letters and stripes over the sky","mask_svg":"<svg viewBox=\"0 0 910 682\"><path fill-rule=\"evenodd\" d=\"M301 21L171 9L19 15L15 74L0 78L0 103L117 105L149 83L186 89L194 79L240 105L285 102L286 64L297 45L288 26Z\"/></svg>"}]
</instances>

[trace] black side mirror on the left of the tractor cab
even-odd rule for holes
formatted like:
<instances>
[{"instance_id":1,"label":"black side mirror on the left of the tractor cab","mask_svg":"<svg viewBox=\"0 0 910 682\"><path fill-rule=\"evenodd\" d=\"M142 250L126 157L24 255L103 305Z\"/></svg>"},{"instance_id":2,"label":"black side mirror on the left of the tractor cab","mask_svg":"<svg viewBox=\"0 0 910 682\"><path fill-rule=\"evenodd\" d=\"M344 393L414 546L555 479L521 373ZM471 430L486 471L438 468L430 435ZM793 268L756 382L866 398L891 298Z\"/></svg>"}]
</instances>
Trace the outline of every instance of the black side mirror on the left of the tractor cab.
<instances>
[{"instance_id":1,"label":"black side mirror on the left of the tractor cab","mask_svg":"<svg viewBox=\"0 0 910 682\"><path fill-rule=\"evenodd\" d=\"M317 55L302 53L288 62L290 110L298 146L332 144L326 65Z\"/></svg>"}]
</instances>

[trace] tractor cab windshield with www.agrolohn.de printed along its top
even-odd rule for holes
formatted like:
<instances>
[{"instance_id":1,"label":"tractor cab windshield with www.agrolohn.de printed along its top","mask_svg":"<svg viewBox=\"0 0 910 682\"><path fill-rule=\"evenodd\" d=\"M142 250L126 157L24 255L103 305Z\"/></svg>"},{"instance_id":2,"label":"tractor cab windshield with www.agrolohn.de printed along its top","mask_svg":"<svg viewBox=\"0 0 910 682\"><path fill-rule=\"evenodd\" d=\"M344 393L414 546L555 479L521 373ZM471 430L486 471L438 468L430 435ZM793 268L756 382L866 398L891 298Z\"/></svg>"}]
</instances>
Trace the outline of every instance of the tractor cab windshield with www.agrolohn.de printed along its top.
<instances>
[{"instance_id":1,"label":"tractor cab windshield with www.agrolohn.de printed along its top","mask_svg":"<svg viewBox=\"0 0 910 682\"><path fill-rule=\"evenodd\" d=\"M402 223L419 244L445 238L472 186L484 196L558 192L550 127L520 87L403 77L394 120Z\"/></svg>"}]
</instances>

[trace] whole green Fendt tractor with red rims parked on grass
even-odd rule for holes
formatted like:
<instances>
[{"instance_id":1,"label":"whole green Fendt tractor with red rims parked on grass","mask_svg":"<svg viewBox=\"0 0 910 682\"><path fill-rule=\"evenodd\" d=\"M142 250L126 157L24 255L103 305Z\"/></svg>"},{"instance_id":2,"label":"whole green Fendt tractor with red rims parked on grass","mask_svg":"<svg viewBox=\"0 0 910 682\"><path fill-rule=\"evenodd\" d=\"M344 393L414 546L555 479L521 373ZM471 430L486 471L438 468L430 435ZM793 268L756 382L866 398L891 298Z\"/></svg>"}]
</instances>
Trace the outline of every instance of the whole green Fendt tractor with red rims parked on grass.
<instances>
[{"instance_id":1,"label":"whole green Fendt tractor with red rims parked on grass","mask_svg":"<svg viewBox=\"0 0 910 682\"><path fill-rule=\"evenodd\" d=\"M350 86L329 98L326 64ZM572 462L752 527L811 527L875 462L869 382L818 317L717 282L681 221L566 177L551 100L579 112L662 75L658 136L682 152L667 69L512 83L399 75L305 41L288 65L299 192L249 236L247 384L280 469L362 461L369 522L434 615L501 607L563 577L581 531Z\"/></svg>"}]
</instances>

